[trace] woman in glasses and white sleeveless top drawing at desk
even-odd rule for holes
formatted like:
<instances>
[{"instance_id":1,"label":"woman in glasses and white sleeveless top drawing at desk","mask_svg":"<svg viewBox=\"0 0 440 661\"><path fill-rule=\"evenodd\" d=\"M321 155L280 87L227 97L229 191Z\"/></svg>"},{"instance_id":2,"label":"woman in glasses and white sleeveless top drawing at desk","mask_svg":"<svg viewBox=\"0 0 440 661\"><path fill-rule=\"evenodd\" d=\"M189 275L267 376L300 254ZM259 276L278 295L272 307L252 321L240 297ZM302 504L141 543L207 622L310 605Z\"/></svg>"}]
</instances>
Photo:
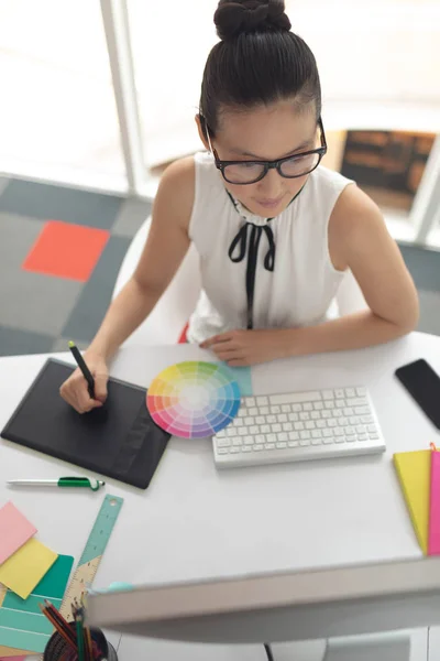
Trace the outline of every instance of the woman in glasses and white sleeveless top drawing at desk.
<instances>
[{"instance_id":1,"label":"woman in glasses and white sleeveless top drawing at desk","mask_svg":"<svg viewBox=\"0 0 440 661\"><path fill-rule=\"evenodd\" d=\"M356 349L414 329L418 300L372 199L320 166L327 151L315 57L283 0L220 0L220 42L204 73L196 122L209 152L164 173L138 268L61 393L102 405L107 362L145 319L193 241L202 292L187 337L231 366ZM369 308L329 321L350 269Z\"/></svg>"}]
</instances>

